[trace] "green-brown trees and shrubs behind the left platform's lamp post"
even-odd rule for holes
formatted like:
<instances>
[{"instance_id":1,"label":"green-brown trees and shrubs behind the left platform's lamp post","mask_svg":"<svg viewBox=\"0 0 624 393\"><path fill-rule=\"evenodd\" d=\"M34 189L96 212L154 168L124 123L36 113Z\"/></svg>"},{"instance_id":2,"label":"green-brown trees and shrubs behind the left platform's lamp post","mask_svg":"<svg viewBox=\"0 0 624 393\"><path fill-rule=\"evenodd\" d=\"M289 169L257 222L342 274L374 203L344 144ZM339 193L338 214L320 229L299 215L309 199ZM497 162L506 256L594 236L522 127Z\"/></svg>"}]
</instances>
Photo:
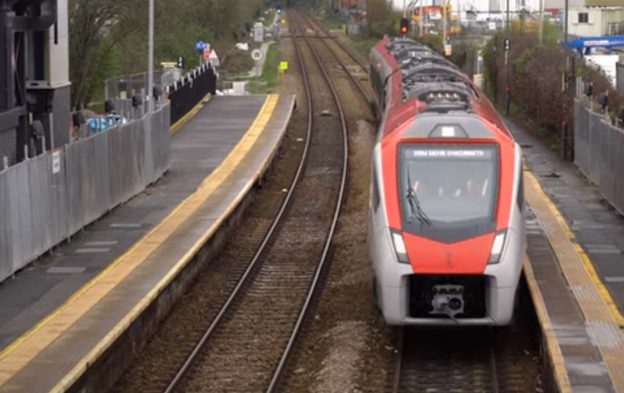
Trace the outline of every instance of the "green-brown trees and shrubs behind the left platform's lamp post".
<instances>
[{"instance_id":1,"label":"green-brown trees and shrubs behind the left platform's lamp post","mask_svg":"<svg viewBox=\"0 0 624 393\"><path fill-rule=\"evenodd\" d=\"M209 41L221 54L246 40L265 0L155 0L155 65L186 59L198 64L195 42ZM147 70L147 1L69 0L72 106L102 98L104 81Z\"/></svg>"}]
</instances>

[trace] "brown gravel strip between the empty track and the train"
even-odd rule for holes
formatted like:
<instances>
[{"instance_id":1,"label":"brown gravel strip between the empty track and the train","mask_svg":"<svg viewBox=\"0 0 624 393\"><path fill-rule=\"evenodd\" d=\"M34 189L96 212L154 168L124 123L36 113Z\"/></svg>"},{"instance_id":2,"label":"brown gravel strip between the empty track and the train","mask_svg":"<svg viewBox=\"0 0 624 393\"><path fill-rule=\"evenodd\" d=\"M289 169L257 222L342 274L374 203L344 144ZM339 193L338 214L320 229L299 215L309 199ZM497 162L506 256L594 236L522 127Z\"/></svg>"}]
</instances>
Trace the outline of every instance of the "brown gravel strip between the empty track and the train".
<instances>
[{"instance_id":1,"label":"brown gravel strip between the empty track and the train","mask_svg":"<svg viewBox=\"0 0 624 393\"><path fill-rule=\"evenodd\" d=\"M335 58L319 40L313 41L347 114L349 189L333 241L326 286L317 300L314 318L299 337L280 390L383 392L391 383L394 334L377 317L366 247L370 157L376 127L368 105Z\"/></svg>"}]
</instances>

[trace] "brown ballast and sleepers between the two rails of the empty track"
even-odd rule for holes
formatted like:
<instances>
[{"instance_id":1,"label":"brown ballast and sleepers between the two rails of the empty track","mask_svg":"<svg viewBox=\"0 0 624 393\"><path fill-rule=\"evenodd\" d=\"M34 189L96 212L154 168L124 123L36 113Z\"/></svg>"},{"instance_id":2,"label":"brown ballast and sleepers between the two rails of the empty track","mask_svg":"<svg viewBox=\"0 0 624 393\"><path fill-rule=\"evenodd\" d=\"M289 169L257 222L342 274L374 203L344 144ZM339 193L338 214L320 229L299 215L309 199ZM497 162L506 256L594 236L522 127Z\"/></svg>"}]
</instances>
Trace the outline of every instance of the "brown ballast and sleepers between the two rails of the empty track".
<instances>
[{"instance_id":1,"label":"brown ballast and sleepers between the two rails of the empty track","mask_svg":"<svg viewBox=\"0 0 624 393\"><path fill-rule=\"evenodd\" d=\"M301 49L311 79L315 116L305 169L257 273L211 335L181 385L182 391L260 392L266 388L308 293L323 246L331 239L335 204L342 200L341 181L346 176L346 141L339 108L311 61L311 50Z\"/></svg>"}]
</instances>

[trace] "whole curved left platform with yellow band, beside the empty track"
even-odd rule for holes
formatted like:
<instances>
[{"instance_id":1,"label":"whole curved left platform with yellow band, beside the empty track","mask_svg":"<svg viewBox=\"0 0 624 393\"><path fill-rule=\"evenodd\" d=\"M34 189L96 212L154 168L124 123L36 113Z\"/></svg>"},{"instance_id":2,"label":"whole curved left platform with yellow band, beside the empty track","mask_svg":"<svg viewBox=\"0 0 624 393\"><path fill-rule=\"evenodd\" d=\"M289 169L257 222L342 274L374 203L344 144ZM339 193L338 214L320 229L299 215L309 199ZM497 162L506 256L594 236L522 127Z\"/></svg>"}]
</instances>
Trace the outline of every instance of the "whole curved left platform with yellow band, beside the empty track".
<instances>
[{"instance_id":1,"label":"whole curved left platform with yellow band, beside the empty track","mask_svg":"<svg viewBox=\"0 0 624 393\"><path fill-rule=\"evenodd\" d=\"M0 284L0 392L101 388L117 375L116 359L241 214L293 110L290 95L213 98L172 129L162 180ZM109 375L90 375L96 364Z\"/></svg>"}]
</instances>

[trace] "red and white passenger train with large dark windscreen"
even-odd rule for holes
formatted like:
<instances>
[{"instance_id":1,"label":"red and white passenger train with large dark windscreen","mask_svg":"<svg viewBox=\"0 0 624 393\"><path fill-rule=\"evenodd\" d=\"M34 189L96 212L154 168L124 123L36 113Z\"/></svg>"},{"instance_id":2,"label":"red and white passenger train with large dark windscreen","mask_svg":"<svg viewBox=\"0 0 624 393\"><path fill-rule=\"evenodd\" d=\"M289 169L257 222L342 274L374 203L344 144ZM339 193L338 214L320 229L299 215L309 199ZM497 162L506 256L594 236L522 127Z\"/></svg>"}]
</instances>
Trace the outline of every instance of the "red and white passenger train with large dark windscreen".
<instances>
[{"instance_id":1,"label":"red and white passenger train with large dark windscreen","mask_svg":"<svg viewBox=\"0 0 624 393\"><path fill-rule=\"evenodd\" d=\"M526 247L520 146L428 47L385 38L370 63L381 125L368 241L385 321L510 324Z\"/></svg>"}]
</instances>

